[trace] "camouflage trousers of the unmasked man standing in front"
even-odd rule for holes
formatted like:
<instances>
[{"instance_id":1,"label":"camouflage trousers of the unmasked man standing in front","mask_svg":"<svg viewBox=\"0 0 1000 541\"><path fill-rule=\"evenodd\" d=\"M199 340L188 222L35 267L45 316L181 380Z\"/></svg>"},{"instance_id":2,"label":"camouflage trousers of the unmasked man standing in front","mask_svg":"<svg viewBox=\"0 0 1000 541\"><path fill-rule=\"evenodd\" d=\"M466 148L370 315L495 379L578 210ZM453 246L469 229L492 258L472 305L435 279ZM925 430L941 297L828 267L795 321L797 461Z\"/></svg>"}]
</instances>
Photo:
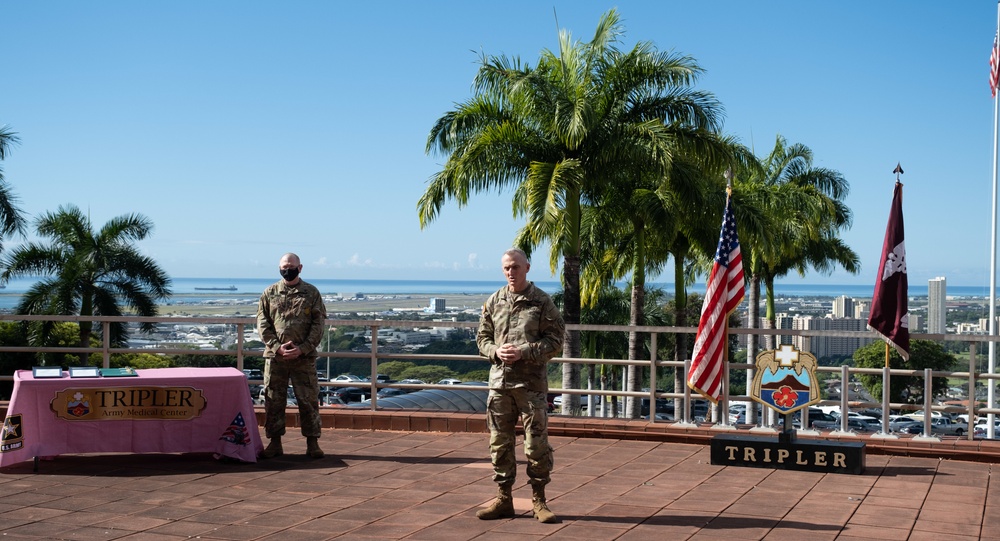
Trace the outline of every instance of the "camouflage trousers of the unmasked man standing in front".
<instances>
[{"instance_id":1,"label":"camouflage trousers of the unmasked man standing in front","mask_svg":"<svg viewBox=\"0 0 1000 541\"><path fill-rule=\"evenodd\" d=\"M490 390L486 403L486 425L490 428L490 458L493 480L510 486L517 476L514 457L518 418L524 425L524 456L528 459L528 482L545 486L552 472L553 454L549 445L548 403L545 393L527 389Z\"/></svg>"}]
</instances>

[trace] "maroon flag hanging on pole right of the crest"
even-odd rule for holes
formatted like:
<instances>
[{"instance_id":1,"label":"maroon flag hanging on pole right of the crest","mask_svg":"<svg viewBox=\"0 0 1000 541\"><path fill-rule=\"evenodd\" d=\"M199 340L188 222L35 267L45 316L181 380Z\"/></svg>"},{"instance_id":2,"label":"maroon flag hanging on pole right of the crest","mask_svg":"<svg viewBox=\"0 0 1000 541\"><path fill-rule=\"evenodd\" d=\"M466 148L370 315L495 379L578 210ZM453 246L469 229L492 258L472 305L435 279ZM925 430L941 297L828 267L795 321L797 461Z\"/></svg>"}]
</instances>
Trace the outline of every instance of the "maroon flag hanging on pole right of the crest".
<instances>
[{"instance_id":1,"label":"maroon flag hanging on pole right of the crest","mask_svg":"<svg viewBox=\"0 0 1000 541\"><path fill-rule=\"evenodd\" d=\"M910 313L907 308L906 246L903 243L903 184L892 192L882 261L875 281L868 328L877 332L903 359L910 358Z\"/></svg>"}]
</instances>

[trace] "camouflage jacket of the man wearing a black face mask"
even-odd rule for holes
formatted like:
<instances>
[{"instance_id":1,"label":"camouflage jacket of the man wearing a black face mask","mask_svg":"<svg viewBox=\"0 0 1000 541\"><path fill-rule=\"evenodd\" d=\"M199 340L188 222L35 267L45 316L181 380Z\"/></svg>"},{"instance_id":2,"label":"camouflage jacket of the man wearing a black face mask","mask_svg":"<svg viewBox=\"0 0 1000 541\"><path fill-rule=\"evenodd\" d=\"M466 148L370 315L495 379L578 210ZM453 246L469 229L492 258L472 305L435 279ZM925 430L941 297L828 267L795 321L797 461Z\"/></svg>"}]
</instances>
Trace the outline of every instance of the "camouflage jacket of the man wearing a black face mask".
<instances>
[{"instance_id":1,"label":"camouflage jacket of the man wearing a black face mask","mask_svg":"<svg viewBox=\"0 0 1000 541\"><path fill-rule=\"evenodd\" d=\"M323 339L326 306L316 286L299 281L294 286L279 280L260 296L257 307L257 330L266 349L264 357L274 357L278 346L292 341L302 356L316 357Z\"/></svg>"}]
</instances>

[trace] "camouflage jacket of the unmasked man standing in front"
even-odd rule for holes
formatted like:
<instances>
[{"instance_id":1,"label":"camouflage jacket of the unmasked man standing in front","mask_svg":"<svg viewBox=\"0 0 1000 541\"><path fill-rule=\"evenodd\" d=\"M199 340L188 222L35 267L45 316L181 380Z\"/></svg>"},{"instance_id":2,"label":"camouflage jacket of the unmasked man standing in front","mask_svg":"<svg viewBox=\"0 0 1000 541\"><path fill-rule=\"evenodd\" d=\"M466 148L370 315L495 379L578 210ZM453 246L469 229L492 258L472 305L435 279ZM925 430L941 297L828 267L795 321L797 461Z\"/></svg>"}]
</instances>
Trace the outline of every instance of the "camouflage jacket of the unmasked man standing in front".
<instances>
[{"instance_id":1,"label":"camouflage jacket of the unmasked man standing in front","mask_svg":"<svg viewBox=\"0 0 1000 541\"><path fill-rule=\"evenodd\" d=\"M556 305L534 283L520 293L504 287L490 295L476 334L479 353L492 364L490 388L526 387L548 392L546 364L561 353L564 330ZM511 366L505 366L496 355L507 342L521 349L521 359Z\"/></svg>"}]
</instances>

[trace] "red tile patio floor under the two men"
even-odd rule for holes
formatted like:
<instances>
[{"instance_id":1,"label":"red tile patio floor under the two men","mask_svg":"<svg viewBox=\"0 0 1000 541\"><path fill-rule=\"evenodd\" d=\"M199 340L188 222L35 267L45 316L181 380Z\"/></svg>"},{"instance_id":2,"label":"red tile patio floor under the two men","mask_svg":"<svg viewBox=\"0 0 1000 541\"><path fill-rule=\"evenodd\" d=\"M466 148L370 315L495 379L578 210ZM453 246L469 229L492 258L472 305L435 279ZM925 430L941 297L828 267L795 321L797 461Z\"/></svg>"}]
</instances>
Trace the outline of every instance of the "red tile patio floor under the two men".
<instances>
[{"instance_id":1,"label":"red tile patio floor under the two men","mask_svg":"<svg viewBox=\"0 0 1000 541\"><path fill-rule=\"evenodd\" d=\"M480 432L334 428L326 458L73 455L0 471L0 538L426 541L518 539L1000 540L994 464L868 454L863 475L713 466L699 443L551 438L557 524L475 511L495 485ZM519 451L519 456L520 451Z\"/></svg>"}]
</instances>

